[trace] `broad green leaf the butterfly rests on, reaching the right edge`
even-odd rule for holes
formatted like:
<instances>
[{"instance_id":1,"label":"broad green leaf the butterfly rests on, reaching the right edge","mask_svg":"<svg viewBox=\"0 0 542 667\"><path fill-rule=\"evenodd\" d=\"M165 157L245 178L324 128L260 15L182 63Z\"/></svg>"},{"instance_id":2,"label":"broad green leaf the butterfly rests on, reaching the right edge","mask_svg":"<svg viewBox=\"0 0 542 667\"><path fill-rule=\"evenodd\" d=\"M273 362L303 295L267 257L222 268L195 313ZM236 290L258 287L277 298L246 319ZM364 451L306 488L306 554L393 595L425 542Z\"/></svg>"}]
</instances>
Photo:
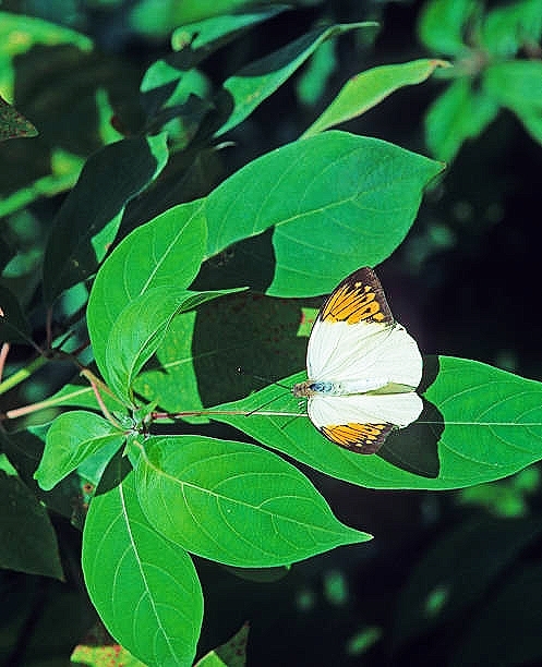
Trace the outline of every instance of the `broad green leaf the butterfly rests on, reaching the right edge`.
<instances>
[{"instance_id":1,"label":"broad green leaf the butterfly rests on, reaching the right edge","mask_svg":"<svg viewBox=\"0 0 542 667\"><path fill-rule=\"evenodd\" d=\"M427 403L420 420L394 432L375 456L326 440L305 408L276 386L207 415L328 475L371 488L459 488L505 477L541 458L540 383L450 356L425 357L424 366ZM300 373L281 384L304 377Z\"/></svg>"}]
</instances>

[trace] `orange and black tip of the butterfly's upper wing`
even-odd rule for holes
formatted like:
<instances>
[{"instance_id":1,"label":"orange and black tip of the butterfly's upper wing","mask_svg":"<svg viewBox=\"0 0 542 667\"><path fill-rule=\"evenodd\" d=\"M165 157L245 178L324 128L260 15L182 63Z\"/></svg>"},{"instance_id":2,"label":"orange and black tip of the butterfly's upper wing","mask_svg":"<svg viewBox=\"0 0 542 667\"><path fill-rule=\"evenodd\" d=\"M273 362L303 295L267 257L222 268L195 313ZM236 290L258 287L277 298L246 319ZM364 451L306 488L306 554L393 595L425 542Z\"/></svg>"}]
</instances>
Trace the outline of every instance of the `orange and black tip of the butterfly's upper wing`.
<instances>
[{"instance_id":1,"label":"orange and black tip of the butterfly's upper wing","mask_svg":"<svg viewBox=\"0 0 542 667\"><path fill-rule=\"evenodd\" d=\"M346 322L349 325L394 322L381 281L369 267L358 269L339 282L322 306L318 318L330 324Z\"/></svg>"}]
</instances>

